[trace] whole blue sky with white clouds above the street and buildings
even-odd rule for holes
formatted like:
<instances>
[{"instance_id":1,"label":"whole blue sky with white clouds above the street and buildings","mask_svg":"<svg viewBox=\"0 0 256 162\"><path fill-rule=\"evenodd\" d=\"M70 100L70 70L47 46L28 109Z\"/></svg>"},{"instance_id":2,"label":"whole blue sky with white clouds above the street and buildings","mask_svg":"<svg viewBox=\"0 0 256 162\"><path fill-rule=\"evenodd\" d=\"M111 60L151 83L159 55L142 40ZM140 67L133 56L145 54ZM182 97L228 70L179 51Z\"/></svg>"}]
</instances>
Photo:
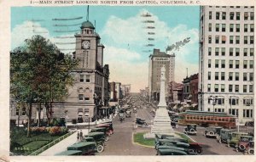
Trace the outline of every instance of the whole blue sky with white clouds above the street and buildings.
<instances>
[{"instance_id":1,"label":"whole blue sky with white clouds above the street and buildings","mask_svg":"<svg viewBox=\"0 0 256 162\"><path fill-rule=\"evenodd\" d=\"M151 17L143 17L145 14ZM79 32L86 15L87 6L13 7L11 47L19 47L27 38L39 34L54 42L63 53L72 53L74 34ZM89 20L96 25L96 32L105 46L103 62L109 64L109 81L131 84L131 92L148 87L148 56L154 48L165 52L167 46L187 37L190 42L179 51L173 51L176 54L175 81L183 81L186 68L189 75L198 73L199 6L90 6ZM154 41L148 41L148 37ZM148 47L148 44L154 46Z\"/></svg>"}]
</instances>

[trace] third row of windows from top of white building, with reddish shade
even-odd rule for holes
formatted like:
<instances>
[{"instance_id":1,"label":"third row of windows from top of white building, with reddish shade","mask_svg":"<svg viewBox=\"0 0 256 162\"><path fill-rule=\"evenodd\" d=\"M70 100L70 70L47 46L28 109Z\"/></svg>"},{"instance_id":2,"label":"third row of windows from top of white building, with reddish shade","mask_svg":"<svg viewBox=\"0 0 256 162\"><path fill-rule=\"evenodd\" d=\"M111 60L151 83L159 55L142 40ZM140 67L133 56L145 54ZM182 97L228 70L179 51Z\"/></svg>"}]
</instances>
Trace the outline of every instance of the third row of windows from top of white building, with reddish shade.
<instances>
[{"instance_id":1,"label":"third row of windows from top of white building, with reddish shade","mask_svg":"<svg viewBox=\"0 0 256 162\"><path fill-rule=\"evenodd\" d=\"M221 37L221 39L220 39ZM235 39L235 41L234 41ZM215 36L215 43L219 44L225 44L227 41L226 36ZM212 36L208 36L208 43L212 43ZM230 44L240 44L240 36L230 36ZM254 36L243 36L243 43L244 44L253 44L254 43Z\"/></svg>"}]
</instances>

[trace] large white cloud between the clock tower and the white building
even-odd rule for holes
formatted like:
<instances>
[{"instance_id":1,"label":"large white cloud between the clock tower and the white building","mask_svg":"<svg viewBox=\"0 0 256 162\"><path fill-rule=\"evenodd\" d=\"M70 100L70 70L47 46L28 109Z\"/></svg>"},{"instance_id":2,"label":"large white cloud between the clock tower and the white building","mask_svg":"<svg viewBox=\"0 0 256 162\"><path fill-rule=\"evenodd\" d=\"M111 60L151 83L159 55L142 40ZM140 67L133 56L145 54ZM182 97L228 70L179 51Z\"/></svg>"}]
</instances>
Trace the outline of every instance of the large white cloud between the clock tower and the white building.
<instances>
[{"instance_id":1,"label":"large white cloud between the clock tower and the white building","mask_svg":"<svg viewBox=\"0 0 256 162\"><path fill-rule=\"evenodd\" d=\"M110 67L111 81L120 81L130 84L131 91L139 92L139 89L148 87L148 55L143 56L142 48L147 42L150 31L145 29L146 24L142 23L148 10L143 9L134 17L121 19L111 16L102 30L102 42L105 43L105 63ZM175 51L176 67L175 81L181 82L188 74L198 73L198 29L189 29L187 25L176 25L169 27L166 22L161 21L156 15L147 18L154 20L154 47L165 51L168 45L183 41L190 37L190 42ZM148 24L149 25L149 24ZM130 45L130 48L127 47ZM145 48L145 47L144 47ZM148 48L149 49L149 48ZM131 51L133 50L133 51ZM136 53L134 52L136 51ZM139 57L140 55L141 57ZM129 56L129 57L127 57Z\"/></svg>"}]
</instances>

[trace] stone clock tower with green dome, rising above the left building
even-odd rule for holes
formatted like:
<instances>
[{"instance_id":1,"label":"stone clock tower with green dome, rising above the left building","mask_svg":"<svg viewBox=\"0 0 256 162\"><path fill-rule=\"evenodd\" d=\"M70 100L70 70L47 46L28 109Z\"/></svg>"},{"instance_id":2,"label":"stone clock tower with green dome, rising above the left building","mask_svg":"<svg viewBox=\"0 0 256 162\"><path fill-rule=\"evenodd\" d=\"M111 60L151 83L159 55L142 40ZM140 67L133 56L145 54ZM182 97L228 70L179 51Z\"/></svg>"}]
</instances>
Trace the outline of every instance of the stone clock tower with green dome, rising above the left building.
<instances>
[{"instance_id":1,"label":"stone clock tower with green dome, rising above the left building","mask_svg":"<svg viewBox=\"0 0 256 162\"><path fill-rule=\"evenodd\" d=\"M89 20L84 21L80 28L81 32L75 35L75 58L79 59L79 69L96 70L97 46L100 36L96 34L95 27Z\"/></svg>"}]
</instances>

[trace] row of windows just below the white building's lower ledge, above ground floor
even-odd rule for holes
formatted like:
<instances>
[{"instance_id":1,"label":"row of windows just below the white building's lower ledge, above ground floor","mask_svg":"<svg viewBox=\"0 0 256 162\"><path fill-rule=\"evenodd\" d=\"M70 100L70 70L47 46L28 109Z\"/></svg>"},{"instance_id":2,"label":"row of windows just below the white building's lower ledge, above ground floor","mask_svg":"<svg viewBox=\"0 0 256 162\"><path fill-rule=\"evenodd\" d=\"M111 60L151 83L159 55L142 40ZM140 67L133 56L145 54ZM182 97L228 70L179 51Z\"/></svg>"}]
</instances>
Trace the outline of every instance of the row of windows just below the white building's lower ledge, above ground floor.
<instances>
[{"instance_id":1,"label":"row of windows just below the white building's lower ledge, above ground floor","mask_svg":"<svg viewBox=\"0 0 256 162\"><path fill-rule=\"evenodd\" d=\"M224 98L215 98L215 101L212 102L212 98L208 98L208 104L214 104L214 105L224 105ZM239 99L238 98L229 98L229 104L230 105L239 105ZM245 106L253 105L253 98L244 98L242 100L242 104Z\"/></svg>"}]
</instances>

